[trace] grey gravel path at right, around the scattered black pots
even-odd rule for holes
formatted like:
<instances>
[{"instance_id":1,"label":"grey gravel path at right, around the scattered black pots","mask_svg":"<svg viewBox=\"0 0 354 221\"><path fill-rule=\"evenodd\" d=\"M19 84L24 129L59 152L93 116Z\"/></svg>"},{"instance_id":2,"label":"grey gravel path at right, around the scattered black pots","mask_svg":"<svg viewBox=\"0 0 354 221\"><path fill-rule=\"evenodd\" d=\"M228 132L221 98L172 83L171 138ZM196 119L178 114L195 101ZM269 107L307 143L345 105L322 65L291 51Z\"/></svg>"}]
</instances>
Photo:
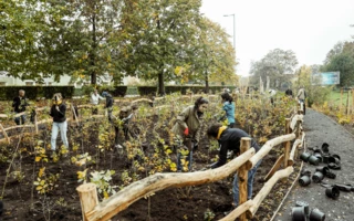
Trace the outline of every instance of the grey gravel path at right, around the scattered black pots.
<instances>
[{"instance_id":1,"label":"grey gravel path at right, around the scattered black pots","mask_svg":"<svg viewBox=\"0 0 354 221\"><path fill-rule=\"evenodd\" d=\"M337 154L341 157L342 169L332 170L332 172L336 173L336 179L324 178L323 181L354 186L354 136L330 117L312 109L306 110L304 130L308 147L319 146L321 148L323 143L327 143L330 152ZM310 152L312 154L312 151ZM320 166L325 166L325 164L320 164ZM304 164L303 168L310 169L313 175L316 166ZM310 211L317 208L325 213L326 221L354 220L354 191L341 191L339 199L333 200L325 196L324 187L314 182L311 182L308 187L301 187L296 182L274 220L292 220L291 211L296 201L308 202Z\"/></svg>"}]
</instances>

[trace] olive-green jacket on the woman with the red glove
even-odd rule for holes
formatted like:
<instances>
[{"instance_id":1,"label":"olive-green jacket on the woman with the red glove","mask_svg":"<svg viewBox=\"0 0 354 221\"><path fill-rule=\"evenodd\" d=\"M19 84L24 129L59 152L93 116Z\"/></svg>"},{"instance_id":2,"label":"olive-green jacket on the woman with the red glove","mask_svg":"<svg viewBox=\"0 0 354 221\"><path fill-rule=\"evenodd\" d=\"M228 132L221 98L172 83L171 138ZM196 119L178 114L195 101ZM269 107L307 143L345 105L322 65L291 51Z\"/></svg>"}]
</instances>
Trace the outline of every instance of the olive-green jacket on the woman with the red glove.
<instances>
[{"instance_id":1,"label":"olive-green jacket on the woman with the red glove","mask_svg":"<svg viewBox=\"0 0 354 221\"><path fill-rule=\"evenodd\" d=\"M198 117L197 109L195 106L189 106L185 108L178 116L177 120L171 129L175 135L185 138L191 138L195 141L199 143L200 137L200 126L202 123L204 116ZM185 129L188 127L189 135L186 137L184 135Z\"/></svg>"}]
</instances>

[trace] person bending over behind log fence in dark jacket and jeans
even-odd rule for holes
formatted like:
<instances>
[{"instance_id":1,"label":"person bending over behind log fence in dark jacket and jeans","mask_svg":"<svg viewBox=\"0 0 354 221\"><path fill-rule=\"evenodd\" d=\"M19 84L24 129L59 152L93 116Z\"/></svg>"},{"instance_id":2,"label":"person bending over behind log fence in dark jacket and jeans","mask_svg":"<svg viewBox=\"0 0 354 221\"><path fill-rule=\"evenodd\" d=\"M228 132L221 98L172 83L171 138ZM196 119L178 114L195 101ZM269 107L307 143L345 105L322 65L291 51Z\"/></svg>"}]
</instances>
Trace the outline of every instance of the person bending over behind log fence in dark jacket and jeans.
<instances>
[{"instance_id":1,"label":"person bending over behind log fence in dark jacket and jeans","mask_svg":"<svg viewBox=\"0 0 354 221\"><path fill-rule=\"evenodd\" d=\"M207 131L207 135L210 138L215 138L218 140L220 150L219 150L219 160L209 167L211 169L221 167L227 162L227 154L228 150L232 150L237 156L240 155L240 145L241 145L241 138L242 137L250 137L246 131L239 128L228 128L226 126L222 126L221 124L212 124ZM256 152L260 149L258 144L254 139L251 140L251 147L256 149ZM257 168L261 164L261 160L257 162L257 165L248 171L248 183L247 183L247 190L248 190L248 199L252 198L252 187L253 187L253 180L254 175L257 171ZM238 176L235 176L233 185L232 185L232 192L233 192L233 203L235 206L238 206L239 203L239 182L238 182Z\"/></svg>"}]
</instances>

